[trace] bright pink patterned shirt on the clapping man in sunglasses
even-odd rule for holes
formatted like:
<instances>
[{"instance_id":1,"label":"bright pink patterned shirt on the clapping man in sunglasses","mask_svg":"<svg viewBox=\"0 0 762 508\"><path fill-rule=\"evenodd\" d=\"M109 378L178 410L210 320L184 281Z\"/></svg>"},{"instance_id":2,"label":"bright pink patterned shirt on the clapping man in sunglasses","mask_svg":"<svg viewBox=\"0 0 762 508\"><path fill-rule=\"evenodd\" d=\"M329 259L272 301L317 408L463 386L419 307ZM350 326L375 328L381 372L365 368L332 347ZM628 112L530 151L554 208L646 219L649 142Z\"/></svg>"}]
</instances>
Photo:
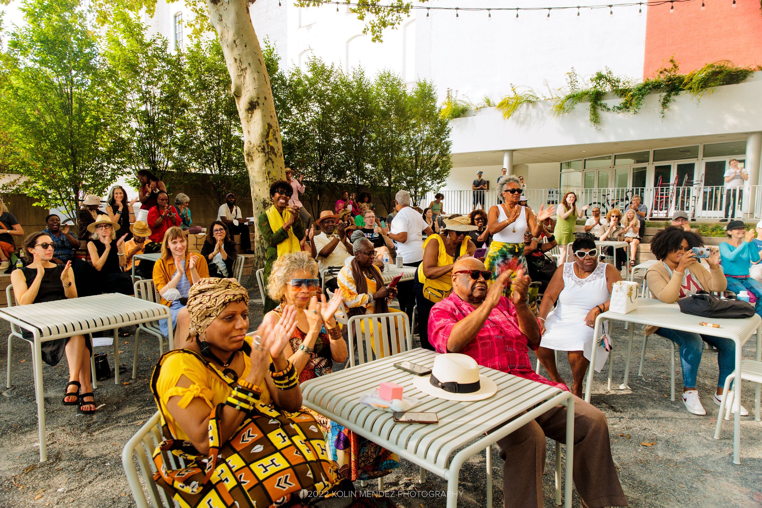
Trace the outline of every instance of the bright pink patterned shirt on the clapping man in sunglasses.
<instances>
[{"instance_id":1,"label":"bright pink patterned shirt on the clapping man in sunglasses","mask_svg":"<svg viewBox=\"0 0 762 508\"><path fill-rule=\"evenodd\" d=\"M447 353L447 340L453 326L474 310L473 305L464 302L454 292L431 308L428 338L437 352ZM514 304L501 296L482 329L460 353L471 356L481 366L568 391L566 385L554 383L534 372L528 349L527 337L519 330Z\"/></svg>"}]
</instances>

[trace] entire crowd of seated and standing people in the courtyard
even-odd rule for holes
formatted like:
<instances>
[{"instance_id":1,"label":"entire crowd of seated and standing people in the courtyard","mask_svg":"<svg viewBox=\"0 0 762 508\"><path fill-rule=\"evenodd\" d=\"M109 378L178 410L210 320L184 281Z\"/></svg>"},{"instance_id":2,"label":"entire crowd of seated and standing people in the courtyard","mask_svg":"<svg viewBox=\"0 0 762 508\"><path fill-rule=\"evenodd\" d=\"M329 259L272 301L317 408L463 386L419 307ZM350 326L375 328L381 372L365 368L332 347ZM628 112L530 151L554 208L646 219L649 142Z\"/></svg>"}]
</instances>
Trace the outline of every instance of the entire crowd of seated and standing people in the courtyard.
<instances>
[{"instance_id":1,"label":"entire crowd of seated and standing people in the courtyard","mask_svg":"<svg viewBox=\"0 0 762 508\"><path fill-rule=\"evenodd\" d=\"M166 449L185 454L181 470L158 465L156 481L168 494L184 506L205 506L200 503L207 494L224 491L229 498L224 506L235 506L247 494L210 479L210 467L235 455L242 467L253 468L283 447L298 450L278 455L283 467L308 462L309 468L293 468L293 488L252 477L246 493L262 506L286 503L304 490L312 497L351 492L351 481L383 477L398 468L395 453L304 407L299 382L330 375L335 363L353 353L337 312L344 318L396 315L400 318L392 318L390 326L397 331L403 313L409 322L415 312L421 347L470 356L479 366L571 391L578 493L586 506L627 505L606 417L581 397L593 348L600 348L594 369L600 371L607 361L593 327L609 308L627 257L620 249L618 266L607 264L613 248L599 248L596 241L626 241L629 267L635 266L648 215L640 196L604 215L597 206L580 206L569 191L558 206L539 206L535 212L523 178L504 171L496 185L498 204L484 209L489 184L479 172L469 215L447 214L441 193L420 209L408 191L399 190L389 215L379 218L371 193L343 191L332 209L313 219L299 200L306 191L303 177L290 168L285 174L271 185L271 205L256 218L246 218L235 194L228 193L197 254L188 237L201 228L193 222L190 198L177 193L171 205L164 182L139 171L138 194L131 200L120 186L110 188L102 210L98 196L84 197L78 235L58 215L48 216L47 227L24 240L25 266L11 272L18 305L101 292L132 295L133 265L136 274L153 280L171 315L171 324L162 320L159 326L165 335L173 327L176 349L158 360L152 391ZM577 221L588 209L591 216L578 232ZM12 235L24 231L2 201L0 213L0 269L8 269L15 253ZM235 235L242 251L251 253L255 219L265 247L265 303L261 325L250 336L248 291L235 280L233 264ZM702 263L694 251L703 247L701 237L691 230L687 215L676 212L671 225L650 241L655 262L645 281L652 298L672 303L702 290L745 291L762 315L762 221L756 231L747 231L734 219L726 232L726 241L711 248ZM556 247L559 266L548 256ZM150 253L158 260L135 258ZM385 283L383 271L395 262L409 267L413 280ZM386 337L380 324L370 326L372 337ZM392 328L388 331L395 337ZM666 327L647 327L645 333L679 347L683 401L692 414L706 414L696 389L703 343L716 347L719 377L713 401L720 403L735 366L732 340ZM75 335L43 343L42 350L46 363L56 365L66 356L69 364L62 404L84 414L96 411L90 339ZM549 379L532 368L528 350L535 351ZM568 353L571 382L559 374L557 351ZM510 457L503 481L511 495L504 497L504 506L542 506L544 438L565 441L566 411L555 407L498 441L501 456ZM748 414L744 407L740 411ZM264 446L242 452L235 443L252 433L268 436ZM320 471L321 478L312 471ZM383 500L353 499L345 505L386 506Z\"/></svg>"}]
</instances>

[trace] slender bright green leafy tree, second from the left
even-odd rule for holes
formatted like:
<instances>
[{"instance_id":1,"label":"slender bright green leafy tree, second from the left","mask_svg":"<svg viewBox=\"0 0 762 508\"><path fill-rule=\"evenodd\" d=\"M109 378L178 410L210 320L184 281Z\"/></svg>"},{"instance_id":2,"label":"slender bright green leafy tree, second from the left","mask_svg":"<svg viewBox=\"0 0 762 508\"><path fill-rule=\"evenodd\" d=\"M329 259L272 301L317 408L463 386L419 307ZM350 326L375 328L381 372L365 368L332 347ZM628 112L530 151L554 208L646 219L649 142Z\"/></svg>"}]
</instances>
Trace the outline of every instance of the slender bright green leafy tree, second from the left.
<instances>
[{"instance_id":1,"label":"slender bright green leafy tree, second from the left","mask_svg":"<svg viewBox=\"0 0 762 508\"><path fill-rule=\"evenodd\" d=\"M146 38L134 14L116 11L107 30L105 57L120 114L110 133L120 145L120 165L132 174L147 169L169 186L178 159L189 104L183 53L169 53L167 40Z\"/></svg>"}]
</instances>

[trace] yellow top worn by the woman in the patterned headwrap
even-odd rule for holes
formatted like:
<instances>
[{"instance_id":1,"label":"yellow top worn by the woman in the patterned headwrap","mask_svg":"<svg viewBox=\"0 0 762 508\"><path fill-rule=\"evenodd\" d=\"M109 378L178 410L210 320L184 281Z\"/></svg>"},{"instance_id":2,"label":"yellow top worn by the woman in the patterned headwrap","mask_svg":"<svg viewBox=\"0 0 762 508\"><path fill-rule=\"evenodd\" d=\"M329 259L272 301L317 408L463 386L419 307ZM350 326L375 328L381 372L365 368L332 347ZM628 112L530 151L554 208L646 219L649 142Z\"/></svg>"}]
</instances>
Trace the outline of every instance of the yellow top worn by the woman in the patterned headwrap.
<instances>
[{"instance_id":1,"label":"yellow top worn by the woman in the patterned headwrap","mask_svg":"<svg viewBox=\"0 0 762 508\"><path fill-rule=\"evenodd\" d=\"M251 337L246 337L245 341L251 346ZM244 355L245 368L240 379L245 379L251 370L251 359ZM209 406L210 412L217 404L224 403L232 393L232 388L223 380L221 372L218 374L212 367L207 367L198 356L188 350L170 351L159 359L161 371L158 379L155 381L154 391L159 401L159 412L162 414L162 420L165 420L172 436L175 439L184 439L189 441L187 434L184 433L181 426L174 420L167 410L167 402L171 397L181 397L178 406L181 408L191 404L194 398L203 399ZM181 388L177 386L181 375L185 375L191 380L191 386ZM230 380L232 381L232 379ZM262 404L270 404L270 392L267 391L267 385L262 388L260 401Z\"/></svg>"}]
</instances>

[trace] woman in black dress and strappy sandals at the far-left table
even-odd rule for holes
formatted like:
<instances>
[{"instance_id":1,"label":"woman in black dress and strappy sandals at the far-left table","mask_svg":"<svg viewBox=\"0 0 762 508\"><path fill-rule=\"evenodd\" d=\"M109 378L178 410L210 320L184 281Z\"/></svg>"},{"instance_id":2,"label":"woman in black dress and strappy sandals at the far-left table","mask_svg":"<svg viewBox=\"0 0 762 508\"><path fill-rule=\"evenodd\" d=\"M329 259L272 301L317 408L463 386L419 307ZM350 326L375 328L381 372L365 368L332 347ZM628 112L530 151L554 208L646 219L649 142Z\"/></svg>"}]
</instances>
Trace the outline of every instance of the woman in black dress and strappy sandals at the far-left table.
<instances>
[{"instance_id":1,"label":"woman in black dress and strappy sandals at the far-left table","mask_svg":"<svg viewBox=\"0 0 762 508\"><path fill-rule=\"evenodd\" d=\"M77 297L72 262L68 261L66 265L53 263L53 248L53 238L42 232L32 233L24 240L24 257L28 265L11 272L11 284L18 305ZM32 340L30 332L23 331L23 335L25 339ZM91 414L96 406L90 388L90 340L84 335L73 335L42 343L43 362L48 365L55 366L64 353L69 363L69 385L66 386L62 403L78 406L80 413Z\"/></svg>"}]
</instances>

